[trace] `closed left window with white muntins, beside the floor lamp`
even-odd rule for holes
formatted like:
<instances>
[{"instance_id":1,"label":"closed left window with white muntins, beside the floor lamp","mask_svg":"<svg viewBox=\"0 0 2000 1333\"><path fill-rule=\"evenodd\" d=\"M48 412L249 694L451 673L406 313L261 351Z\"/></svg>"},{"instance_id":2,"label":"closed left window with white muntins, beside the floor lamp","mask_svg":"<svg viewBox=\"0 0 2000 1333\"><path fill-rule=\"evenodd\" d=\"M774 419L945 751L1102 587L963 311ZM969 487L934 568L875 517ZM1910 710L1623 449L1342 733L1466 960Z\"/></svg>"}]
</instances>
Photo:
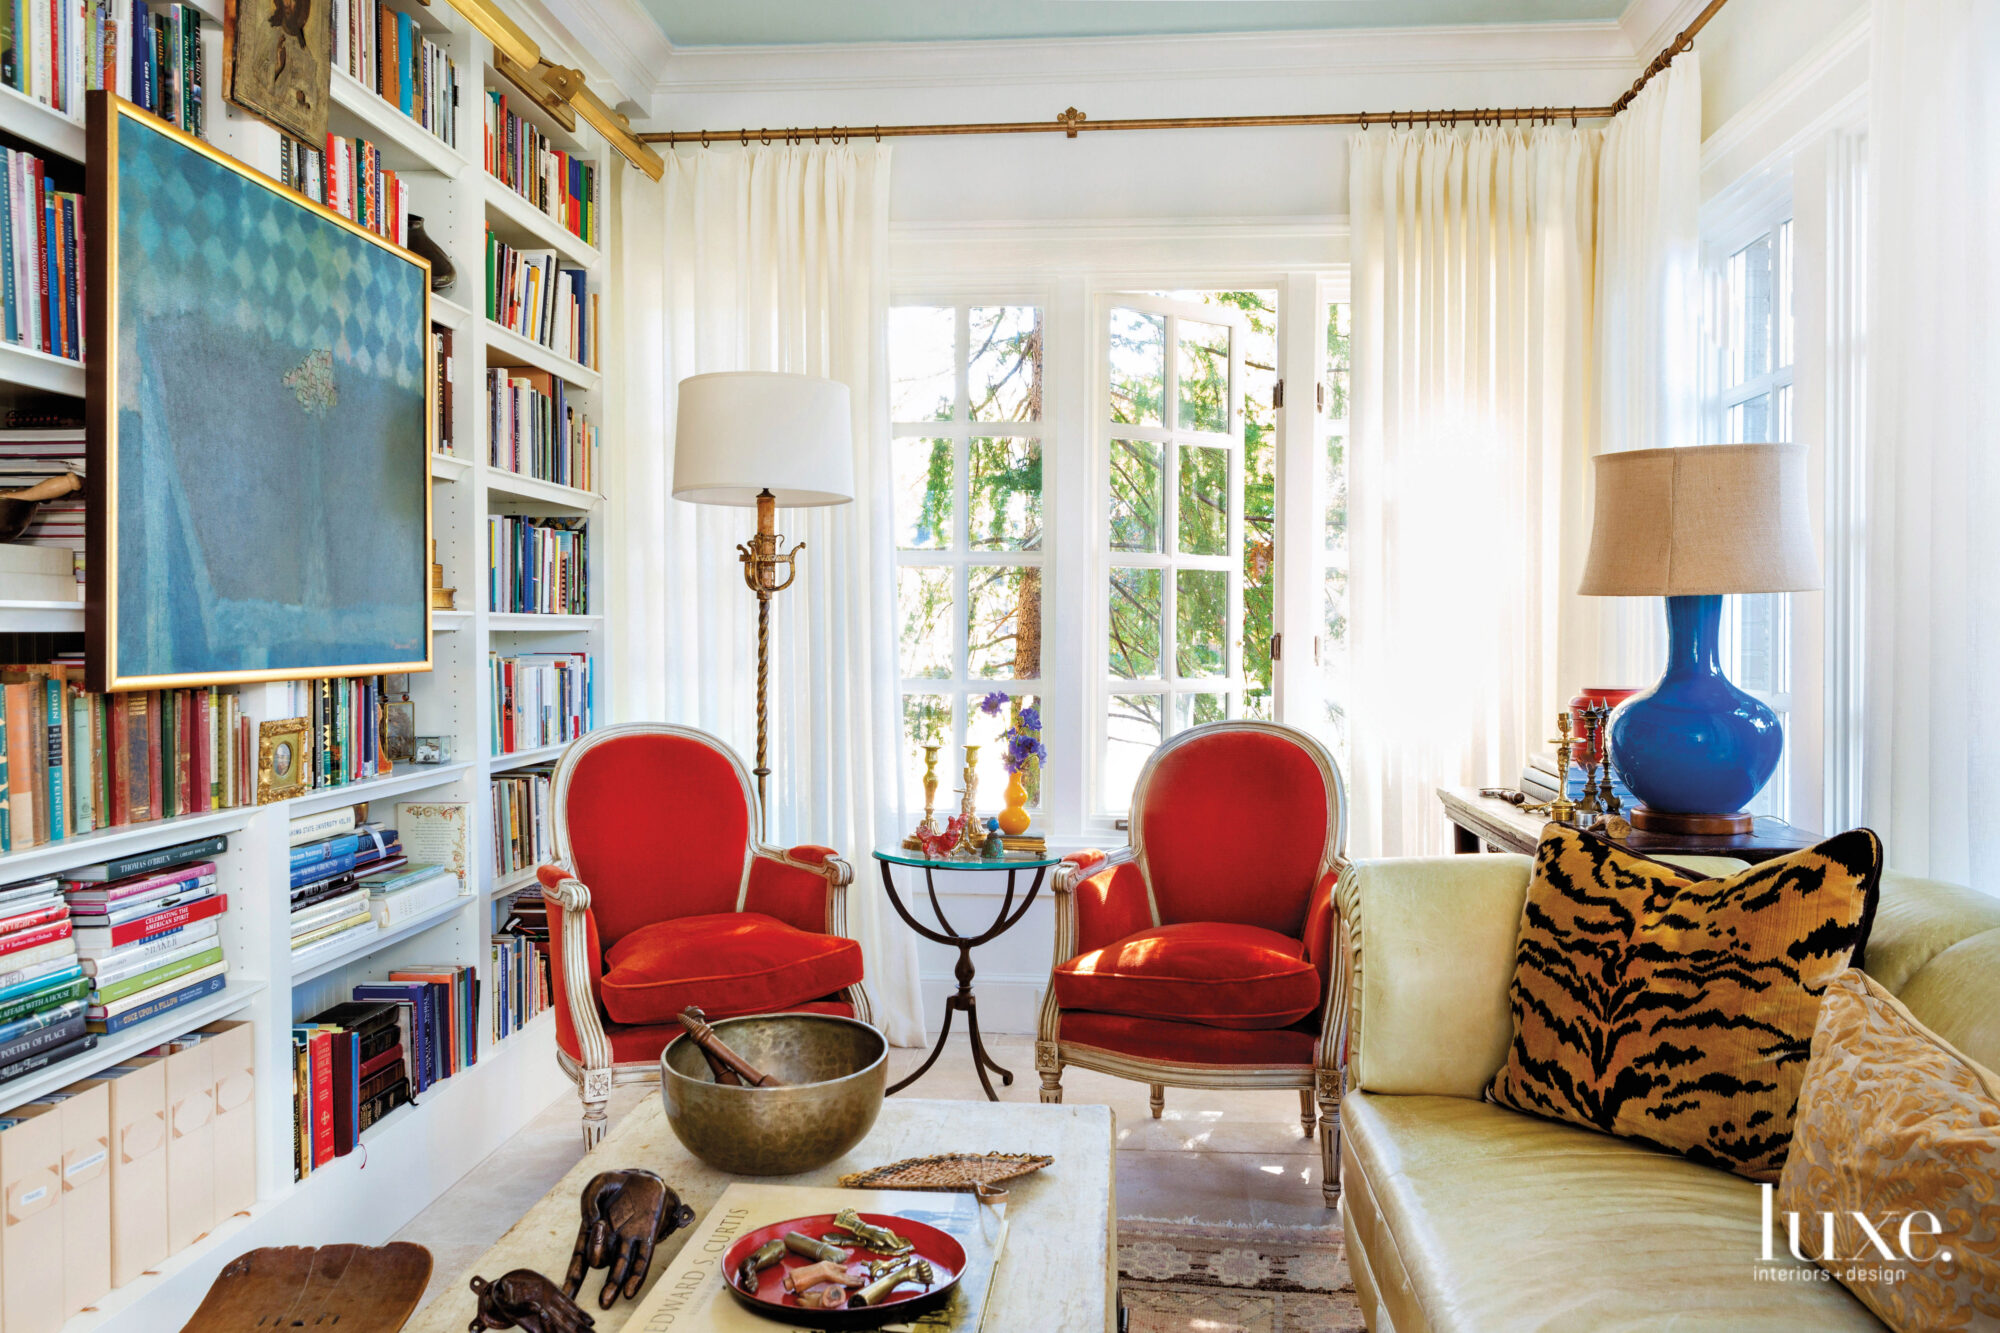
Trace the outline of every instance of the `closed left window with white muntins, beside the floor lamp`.
<instances>
[{"instance_id":1,"label":"closed left window with white muntins, beside the floor lamp","mask_svg":"<svg viewBox=\"0 0 2000 1333\"><path fill-rule=\"evenodd\" d=\"M980 807L1006 787L1000 733L1042 689L1042 310L928 304L890 310L890 472L906 803L922 809L916 747L978 745ZM1010 697L1000 713L978 701ZM1022 771L1040 805L1036 761ZM954 803L940 795L940 811Z\"/></svg>"}]
</instances>

